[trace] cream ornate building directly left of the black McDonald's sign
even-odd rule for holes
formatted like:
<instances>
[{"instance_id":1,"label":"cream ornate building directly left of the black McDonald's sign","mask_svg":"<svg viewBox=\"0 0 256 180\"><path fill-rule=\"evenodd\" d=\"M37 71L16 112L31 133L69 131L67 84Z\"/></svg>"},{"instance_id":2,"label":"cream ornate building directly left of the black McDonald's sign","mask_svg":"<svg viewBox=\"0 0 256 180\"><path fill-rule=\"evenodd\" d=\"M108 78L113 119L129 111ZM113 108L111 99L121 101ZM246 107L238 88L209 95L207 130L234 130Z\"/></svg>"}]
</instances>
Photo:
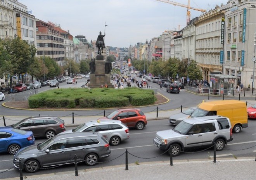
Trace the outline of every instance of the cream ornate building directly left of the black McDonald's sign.
<instances>
[{"instance_id":1,"label":"cream ornate building directly left of the black McDonald's sign","mask_svg":"<svg viewBox=\"0 0 256 180\"><path fill-rule=\"evenodd\" d=\"M221 17L224 13L220 7L216 6L201 15L197 21L195 37L195 60L202 68L203 79L210 82L210 74L221 73L220 51L223 50L221 44Z\"/></svg>"}]
</instances>

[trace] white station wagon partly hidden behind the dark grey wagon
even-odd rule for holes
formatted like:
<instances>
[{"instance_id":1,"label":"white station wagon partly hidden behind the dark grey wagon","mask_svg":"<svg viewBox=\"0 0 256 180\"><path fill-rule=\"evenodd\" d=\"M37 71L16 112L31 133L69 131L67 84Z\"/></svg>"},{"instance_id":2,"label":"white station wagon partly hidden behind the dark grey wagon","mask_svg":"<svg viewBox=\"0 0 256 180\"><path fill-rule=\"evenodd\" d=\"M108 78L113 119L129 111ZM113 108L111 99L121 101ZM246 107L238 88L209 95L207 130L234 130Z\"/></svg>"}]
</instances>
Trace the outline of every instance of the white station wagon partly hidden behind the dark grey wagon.
<instances>
[{"instance_id":1,"label":"white station wagon partly hidden behind the dark grey wagon","mask_svg":"<svg viewBox=\"0 0 256 180\"><path fill-rule=\"evenodd\" d=\"M75 129L70 129L68 131L61 132L60 134L90 131L100 132L100 134L102 134L102 136L104 136L104 138L106 138L112 146L116 146L120 144L121 141L130 138L129 128L121 121L111 119L104 121L95 120L86 122L85 124L81 124Z\"/></svg>"}]
</instances>

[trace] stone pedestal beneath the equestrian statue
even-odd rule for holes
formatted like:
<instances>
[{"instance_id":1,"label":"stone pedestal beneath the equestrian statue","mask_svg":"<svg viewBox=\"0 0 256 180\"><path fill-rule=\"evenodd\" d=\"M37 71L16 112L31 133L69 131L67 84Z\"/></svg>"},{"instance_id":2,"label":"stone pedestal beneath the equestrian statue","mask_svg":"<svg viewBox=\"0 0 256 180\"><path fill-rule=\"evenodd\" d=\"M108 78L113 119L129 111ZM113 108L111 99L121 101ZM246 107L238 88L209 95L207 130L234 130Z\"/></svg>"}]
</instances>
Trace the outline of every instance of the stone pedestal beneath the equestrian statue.
<instances>
[{"instance_id":1,"label":"stone pedestal beneath the equestrian statue","mask_svg":"<svg viewBox=\"0 0 256 180\"><path fill-rule=\"evenodd\" d=\"M102 59L103 58L103 59ZM95 73L90 74L90 83L88 87L90 88L100 88L101 85L109 86L109 88L114 88L114 85L110 82L111 80L111 73L105 74L105 63L104 56L98 55L95 60Z\"/></svg>"}]
</instances>

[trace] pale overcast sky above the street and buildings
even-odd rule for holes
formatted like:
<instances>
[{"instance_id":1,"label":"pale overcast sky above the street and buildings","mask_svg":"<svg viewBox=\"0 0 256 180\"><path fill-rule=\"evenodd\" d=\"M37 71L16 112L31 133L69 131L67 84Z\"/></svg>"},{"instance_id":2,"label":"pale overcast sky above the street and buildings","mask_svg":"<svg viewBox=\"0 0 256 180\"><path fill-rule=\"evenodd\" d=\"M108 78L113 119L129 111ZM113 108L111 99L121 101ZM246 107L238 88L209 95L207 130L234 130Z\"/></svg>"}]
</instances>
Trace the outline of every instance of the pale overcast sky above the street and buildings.
<instances>
[{"instance_id":1,"label":"pale overcast sky above the street and buildings","mask_svg":"<svg viewBox=\"0 0 256 180\"><path fill-rule=\"evenodd\" d=\"M188 0L173 0L187 5ZM104 34L106 46L129 47L158 37L165 30L186 25L187 8L157 0L19 0L36 18L60 24L73 36L84 35L87 41ZM190 7L214 9L227 0L190 0ZM191 19L201 15L190 10Z\"/></svg>"}]
</instances>

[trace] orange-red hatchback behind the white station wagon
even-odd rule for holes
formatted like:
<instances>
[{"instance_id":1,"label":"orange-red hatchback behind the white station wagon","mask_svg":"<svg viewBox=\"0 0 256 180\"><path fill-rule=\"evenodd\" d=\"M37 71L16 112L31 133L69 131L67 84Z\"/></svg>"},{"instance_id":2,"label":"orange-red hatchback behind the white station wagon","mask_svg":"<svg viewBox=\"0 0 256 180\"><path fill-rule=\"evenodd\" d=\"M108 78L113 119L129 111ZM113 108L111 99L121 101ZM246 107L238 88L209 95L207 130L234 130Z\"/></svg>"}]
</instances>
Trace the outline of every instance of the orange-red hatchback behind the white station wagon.
<instances>
[{"instance_id":1,"label":"orange-red hatchback behind the white station wagon","mask_svg":"<svg viewBox=\"0 0 256 180\"><path fill-rule=\"evenodd\" d=\"M135 127L138 130L142 130L147 125L147 119L145 114L136 108L125 108L118 109L106 117L101 117L104 119L120 120L128 127Z\"/></svg>"}]
</instances>

